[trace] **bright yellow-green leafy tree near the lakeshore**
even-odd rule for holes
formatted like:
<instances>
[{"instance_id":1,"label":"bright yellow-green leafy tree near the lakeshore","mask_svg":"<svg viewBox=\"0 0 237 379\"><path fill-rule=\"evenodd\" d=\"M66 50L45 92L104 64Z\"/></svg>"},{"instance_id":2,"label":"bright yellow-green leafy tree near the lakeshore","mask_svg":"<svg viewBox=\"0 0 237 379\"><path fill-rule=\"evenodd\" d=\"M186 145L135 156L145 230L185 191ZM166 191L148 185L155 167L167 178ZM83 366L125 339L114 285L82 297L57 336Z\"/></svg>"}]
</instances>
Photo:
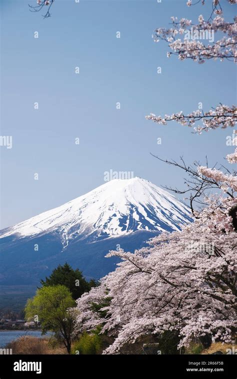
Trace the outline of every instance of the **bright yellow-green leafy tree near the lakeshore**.
<instances>
[{"instance_id":1,"label":"bright yellow-green leafy tree near the lakeshore","mask_svg":"<svg viewBox=\"0 0 237 379\"><path fill-rule=\"evenodd\" d=\"M75 302L65 286L45 286L36 291L25 306L25 317L28 321L37 317L41 323L42 334L47 331L55 333L55 338L62 342L71 352L73 324L75 321Z\"/></svg>"}]
</instances>

